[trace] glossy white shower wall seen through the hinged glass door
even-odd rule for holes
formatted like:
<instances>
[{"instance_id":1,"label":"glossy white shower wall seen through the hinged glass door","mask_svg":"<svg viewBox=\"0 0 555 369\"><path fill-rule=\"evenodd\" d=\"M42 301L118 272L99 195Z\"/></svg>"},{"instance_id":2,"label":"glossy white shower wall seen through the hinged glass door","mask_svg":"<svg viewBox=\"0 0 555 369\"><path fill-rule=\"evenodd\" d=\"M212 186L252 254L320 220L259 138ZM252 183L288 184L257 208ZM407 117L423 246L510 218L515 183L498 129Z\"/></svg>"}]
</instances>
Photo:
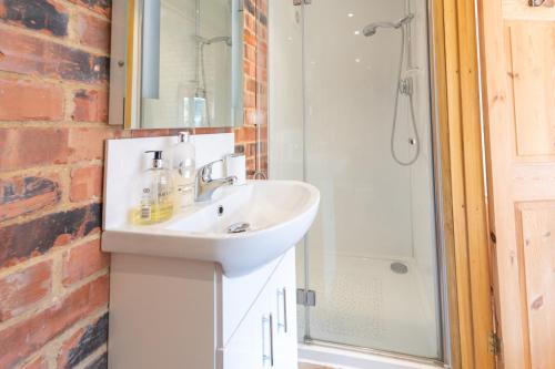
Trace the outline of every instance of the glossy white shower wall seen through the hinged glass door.
<instances>
[{"instance_id":1,"label":"glossy white shower wall seen through the hinged glass door","mask_svg":"<svg viewBox=\"0 0 555 369\"><path fill-rule=\"evenodd\" d=\"M390 153L401 32L380 30L373 38L354 33L370 22L403 14L404 1L320 0L307 7L306 178L322 191L321 217L311 233L311 243L323 245L322 252L381 258L414 255L415 171L396 164ZM415 24L425 30L420 21ZM427 49L420 49L420 54L417 78L425 80ZM418 83L416 95L425 96L418 106L428 103L425 83ZM397 147L406 158L406 104L401 112L397 137L403 141ZM418 115L424 117L418 127L426 146L430 114ZM420 161L423 166L428 163L426 148Z\"/></svg>"}]
</instances>

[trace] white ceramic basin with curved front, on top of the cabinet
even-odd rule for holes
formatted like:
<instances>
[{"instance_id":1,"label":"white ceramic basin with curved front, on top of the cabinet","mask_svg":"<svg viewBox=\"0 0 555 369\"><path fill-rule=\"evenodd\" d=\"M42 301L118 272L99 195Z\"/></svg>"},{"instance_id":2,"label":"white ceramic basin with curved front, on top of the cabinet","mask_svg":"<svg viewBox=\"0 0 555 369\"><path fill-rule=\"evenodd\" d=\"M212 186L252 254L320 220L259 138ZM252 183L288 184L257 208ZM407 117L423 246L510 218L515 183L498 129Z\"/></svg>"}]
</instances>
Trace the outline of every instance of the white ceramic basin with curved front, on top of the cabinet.
<instances>
[{"instance_id":1,"label":"white ceramic basin with curved front, on top of the cabinet","mask_svg":"<svg viewBox=\"0 0 555 369\"><path fill-rule=\"evenodd\" d=\"M228 277L249 274L293 247L317 212L319 191L294 181L251 181L214 193L171 221L104 229L102 249L214 262Z\"/></svg>"}]
</instances>

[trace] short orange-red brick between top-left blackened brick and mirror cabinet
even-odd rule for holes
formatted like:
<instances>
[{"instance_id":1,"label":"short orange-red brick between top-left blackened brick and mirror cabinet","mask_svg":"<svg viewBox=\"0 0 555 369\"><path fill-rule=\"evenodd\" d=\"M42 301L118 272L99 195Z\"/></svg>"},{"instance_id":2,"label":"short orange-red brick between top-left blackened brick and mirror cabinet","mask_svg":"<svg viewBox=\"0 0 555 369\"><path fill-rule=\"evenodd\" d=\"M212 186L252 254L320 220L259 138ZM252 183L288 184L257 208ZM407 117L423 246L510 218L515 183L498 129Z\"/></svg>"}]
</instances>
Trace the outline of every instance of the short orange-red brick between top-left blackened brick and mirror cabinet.
<instances>
[{"instance_id":1,"label":"short orange-red brick between top-left blackened brick and mirror cabinet","mask_svg":"<svg viewBox=\"0 0 555 369\"><path fill-rule=\"evenodd\" d=\"M108 20L80 12L73 18L72 28L81 44L99 49L107 54L110 52L110 22Z\"/></svg>"}]
</instances>

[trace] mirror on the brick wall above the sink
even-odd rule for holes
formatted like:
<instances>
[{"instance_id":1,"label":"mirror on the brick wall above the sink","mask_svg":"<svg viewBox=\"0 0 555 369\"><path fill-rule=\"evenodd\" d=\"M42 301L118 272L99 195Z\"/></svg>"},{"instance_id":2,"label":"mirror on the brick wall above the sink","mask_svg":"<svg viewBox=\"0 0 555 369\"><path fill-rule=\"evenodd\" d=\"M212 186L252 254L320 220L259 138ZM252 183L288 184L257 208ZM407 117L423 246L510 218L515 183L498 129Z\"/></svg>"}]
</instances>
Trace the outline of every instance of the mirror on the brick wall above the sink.
<instances>
[{"instance_id":1,"label":"mirror on the brick wall above the sink","mask_svg":"<svg viewBox=\"0 0 555 369\"><path fill-rule=\"evenodd\" d=\"M242 0L114 0L110 124L243 124Z\"/></svg>"}]
</instances>

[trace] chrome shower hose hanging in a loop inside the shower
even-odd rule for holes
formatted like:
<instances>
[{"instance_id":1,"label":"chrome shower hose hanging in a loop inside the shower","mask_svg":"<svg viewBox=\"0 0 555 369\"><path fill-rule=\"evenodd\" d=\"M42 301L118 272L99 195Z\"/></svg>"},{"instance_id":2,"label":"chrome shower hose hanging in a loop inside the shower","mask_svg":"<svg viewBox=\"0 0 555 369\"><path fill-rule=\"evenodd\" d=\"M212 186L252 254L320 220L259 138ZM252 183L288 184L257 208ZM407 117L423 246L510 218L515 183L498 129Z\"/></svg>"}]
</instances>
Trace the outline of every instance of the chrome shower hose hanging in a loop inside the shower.
<instances>
[{"instance_id":1,"label":"chrome shower hose hanging in a loop inside the shower","mask_svg":"<svg viewBox=\"0 0 555 369\"><path fill-rule=\"evenodd\" d=\"M391 145L390 145L391 156L393 157L393 160L397 164L403 165L403 166L413 165L416 162L416 160L418 158L420 148L421 148L420 137L418 137L418 129L416 126L416 115L414 113L414 99L413 99L412 86L408 86L408 89L406 91L402 91L402 88L401 88L401 85L402 85L401 78L403 76L403 64L404 64L404 60L405 60L405 55L406 55L406 27L410 27L410 25L403 25L401 28L401 31L402 31L401 61L398 63L397 89L395 90L396 91L395 111L393 113L393 124L392 124L392 129L391 129ZM397 131L397 119L398 119L398 96L401 94L406 94L408 96L408 105L410 105L410 111L411 111L410 119L411 119L412 127L414 131L414 140L410 140L410 143L415 145L415 151L414 151L413 156L408 161L402 161L397 156L397 153L395 152L395 135L396 135L396 131Z\"/></svg>"}]
</instances>

